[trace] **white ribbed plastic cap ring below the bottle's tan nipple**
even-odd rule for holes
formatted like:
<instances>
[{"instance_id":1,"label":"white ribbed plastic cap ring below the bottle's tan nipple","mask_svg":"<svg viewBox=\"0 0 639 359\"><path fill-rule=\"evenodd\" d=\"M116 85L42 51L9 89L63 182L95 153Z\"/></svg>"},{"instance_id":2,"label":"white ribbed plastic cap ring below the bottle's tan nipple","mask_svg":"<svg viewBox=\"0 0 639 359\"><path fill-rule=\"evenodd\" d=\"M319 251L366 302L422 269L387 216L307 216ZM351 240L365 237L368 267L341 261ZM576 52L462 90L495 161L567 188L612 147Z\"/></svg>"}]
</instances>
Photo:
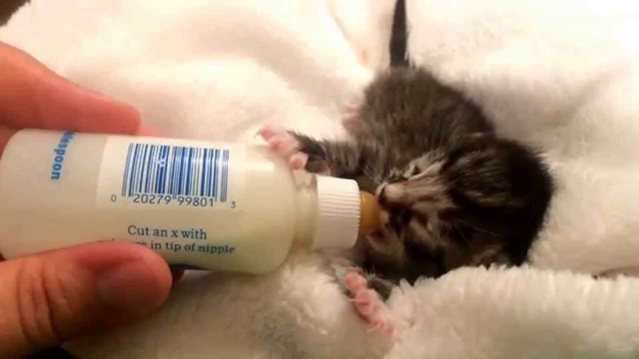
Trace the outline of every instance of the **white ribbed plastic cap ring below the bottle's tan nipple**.
<instances>
[{"instance_id":1,"label":"white ribbed plastic cap ring below the bottle's tan nipple","mask_svg":"<svg viewBox=\"0 0 639 359\"><path fill-rule=\"evenodd\" d=\"M351 248L357 241L360 194L352 179L317 176L317 221L312 248Z\"/></svg>"}]
</instances>

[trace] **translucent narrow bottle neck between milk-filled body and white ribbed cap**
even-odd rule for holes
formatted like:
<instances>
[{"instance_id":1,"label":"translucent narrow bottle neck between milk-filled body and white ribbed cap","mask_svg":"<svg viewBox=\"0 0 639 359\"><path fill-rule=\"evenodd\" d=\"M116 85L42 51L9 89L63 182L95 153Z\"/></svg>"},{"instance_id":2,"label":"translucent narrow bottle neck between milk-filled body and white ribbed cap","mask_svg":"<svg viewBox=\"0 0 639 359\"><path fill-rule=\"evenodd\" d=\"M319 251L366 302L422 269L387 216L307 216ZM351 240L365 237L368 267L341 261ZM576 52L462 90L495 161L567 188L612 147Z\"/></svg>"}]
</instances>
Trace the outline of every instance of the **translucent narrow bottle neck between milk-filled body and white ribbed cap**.
<instances>
[{"instance_id":1,"label":"translucent narrow bottle neck between milk-filled body and white ribbed cap","mask_svg":"<svg viewBox=\"0 0 639 359\"><path fill-rule=\"evenodd\" d=\"M317 225L317 184L315 176L298 181L295 213L295 246L312 248Z\"/></svg>"}]
</instances>

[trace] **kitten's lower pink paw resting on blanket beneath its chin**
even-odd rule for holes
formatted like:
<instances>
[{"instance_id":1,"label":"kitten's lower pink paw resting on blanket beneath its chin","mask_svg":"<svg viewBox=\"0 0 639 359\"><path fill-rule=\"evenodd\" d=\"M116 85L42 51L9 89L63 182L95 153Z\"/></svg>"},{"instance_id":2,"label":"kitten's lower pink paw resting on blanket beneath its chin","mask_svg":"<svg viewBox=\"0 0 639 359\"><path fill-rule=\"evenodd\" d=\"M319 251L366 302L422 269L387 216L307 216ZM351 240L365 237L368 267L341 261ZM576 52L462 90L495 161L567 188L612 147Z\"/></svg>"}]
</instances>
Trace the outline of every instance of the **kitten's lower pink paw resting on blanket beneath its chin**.
<instances>
[{"instance_id":1,"label":"kitten's lower pink paw resting on blanket beneath its chin","mask_svg":"<svg viewBox=\"0 0 639 359\"><path fill-rule=\"evenodd\" d=\"M394 335L396 328L392 323L385 303L379 294L367 286L367 279L357 270L351 270L344 277L344 286L351 295L355 310L362 316L374 332Z\"/></svg>"}]
</instances>

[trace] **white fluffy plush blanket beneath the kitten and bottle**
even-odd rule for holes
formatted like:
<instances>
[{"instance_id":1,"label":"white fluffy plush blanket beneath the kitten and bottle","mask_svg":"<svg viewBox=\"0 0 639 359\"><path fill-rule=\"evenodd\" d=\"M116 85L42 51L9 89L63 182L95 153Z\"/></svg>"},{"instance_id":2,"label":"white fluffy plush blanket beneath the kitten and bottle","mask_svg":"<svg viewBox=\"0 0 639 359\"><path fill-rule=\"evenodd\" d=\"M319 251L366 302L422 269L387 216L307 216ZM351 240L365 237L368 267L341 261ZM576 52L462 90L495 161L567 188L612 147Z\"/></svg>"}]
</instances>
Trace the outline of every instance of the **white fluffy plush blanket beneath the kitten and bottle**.
<instances>
[{"instance_id":1,"label":"white fluffy plush blanket beneath the kitten and bottle","mask_svg":"<svg viewBox=\"0 0 639 359\"><path fill-rule=\"evenodd\" d=\"M253 141L267 122L339 135L388 65L394 1L32 0L0 40L134 103L166 134ZM189 276L148 320L72 346L86 358L636 358L639 2L408 0L412 60L498 130L543 146L558 192L534 268L401 287L396 339L367 332L322 254L264 277ZM362 62L366 59L366 65ZM635 309L633 309L635 308Z\"/></svg>"}]
</instances>

